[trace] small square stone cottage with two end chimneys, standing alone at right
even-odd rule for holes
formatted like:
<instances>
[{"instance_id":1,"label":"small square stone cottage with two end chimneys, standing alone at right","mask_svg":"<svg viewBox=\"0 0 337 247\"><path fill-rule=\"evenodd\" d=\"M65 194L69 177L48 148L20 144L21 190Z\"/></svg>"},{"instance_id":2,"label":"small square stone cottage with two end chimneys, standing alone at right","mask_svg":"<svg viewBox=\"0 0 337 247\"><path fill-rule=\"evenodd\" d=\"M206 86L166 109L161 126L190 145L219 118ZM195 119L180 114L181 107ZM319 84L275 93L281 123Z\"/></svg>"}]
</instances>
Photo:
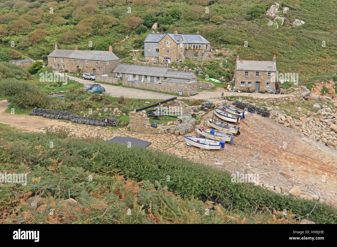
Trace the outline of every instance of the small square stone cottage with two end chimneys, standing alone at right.
<instances>
[{"instance_id":1,"label":"small square stone cottage with two end chimneys, standing alone at right","mask_svg":"<svg viewBox=\"0 0 337 247\"><path fill-rule=\"evenodd\" d=\"M272 61L240 60L236 58L234 80L236 89L275 90L276 56Z\"/></svg>"}]
</instances>

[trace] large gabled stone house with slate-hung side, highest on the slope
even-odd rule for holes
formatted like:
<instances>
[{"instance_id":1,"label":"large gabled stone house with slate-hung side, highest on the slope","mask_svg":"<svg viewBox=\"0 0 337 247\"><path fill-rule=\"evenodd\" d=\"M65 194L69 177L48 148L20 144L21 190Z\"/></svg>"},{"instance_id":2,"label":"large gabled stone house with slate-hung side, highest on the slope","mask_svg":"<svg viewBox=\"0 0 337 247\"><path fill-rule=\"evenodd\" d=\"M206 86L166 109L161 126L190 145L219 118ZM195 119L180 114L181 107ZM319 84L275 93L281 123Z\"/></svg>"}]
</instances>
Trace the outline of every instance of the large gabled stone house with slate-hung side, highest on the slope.
<instances>
[{"instance_id":1,"label":"large gabled stone house with slate-hung side, highest on the slope","mask_svg":"<svg viewBox=\"0 0 337 247\"><path fill-rule=\"evenodd\" d=\"M171 63L190 59L206 60L210 42L196 34L148 34L144 40L144 57L152 63ZM196 55L197 53L197 55Z\"/></svg>"}]
</instances>

